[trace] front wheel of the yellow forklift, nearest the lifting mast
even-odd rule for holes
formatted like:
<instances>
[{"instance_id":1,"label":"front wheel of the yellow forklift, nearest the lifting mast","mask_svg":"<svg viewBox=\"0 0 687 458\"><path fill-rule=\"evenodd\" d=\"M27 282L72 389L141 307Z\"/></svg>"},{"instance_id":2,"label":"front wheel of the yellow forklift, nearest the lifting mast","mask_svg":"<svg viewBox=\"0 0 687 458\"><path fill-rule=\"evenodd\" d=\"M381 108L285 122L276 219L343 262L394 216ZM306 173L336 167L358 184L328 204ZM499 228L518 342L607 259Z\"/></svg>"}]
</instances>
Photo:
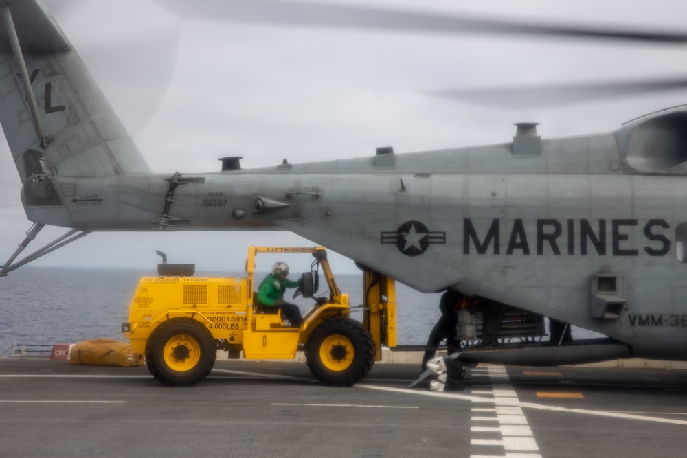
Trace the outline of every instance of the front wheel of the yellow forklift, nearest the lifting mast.
<instances>
[{"instance_id":1,"label":"front wheel of the yellow forklift, nearest the lifting mast","mask_svg":"<svg viewBox=\"0 0 687 458\"><path fill-rule=\"evenodd\" d=\"M330 318L320 323L306 344L308 367L326 385L348 387L362 380L374 364L374 341L361 323Z\"/></svg>"}]
</instances>

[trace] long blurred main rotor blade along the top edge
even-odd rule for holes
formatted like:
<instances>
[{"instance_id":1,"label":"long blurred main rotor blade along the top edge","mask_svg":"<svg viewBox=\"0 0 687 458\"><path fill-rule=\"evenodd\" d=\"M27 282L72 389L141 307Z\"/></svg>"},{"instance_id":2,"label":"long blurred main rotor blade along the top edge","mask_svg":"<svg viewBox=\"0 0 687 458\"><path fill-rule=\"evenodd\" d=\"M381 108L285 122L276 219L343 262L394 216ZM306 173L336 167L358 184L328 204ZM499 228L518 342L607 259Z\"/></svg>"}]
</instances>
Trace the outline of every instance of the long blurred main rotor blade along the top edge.
<instances>
[{"instance_id":1,"label":"long blurred main rotor blade along the top edge","mask_svg":"<svg viewBox=\"0 0 687 458\"><path fill-rule=\"evenodd\" d=\"M156 0L186 19L211 19L368 30L403 30L437 34L526 34L687 43L687 32L638 31L601 26L542 25L468 16L388 10L364 6L275 0Z\"/></svg>"}]
</instances>

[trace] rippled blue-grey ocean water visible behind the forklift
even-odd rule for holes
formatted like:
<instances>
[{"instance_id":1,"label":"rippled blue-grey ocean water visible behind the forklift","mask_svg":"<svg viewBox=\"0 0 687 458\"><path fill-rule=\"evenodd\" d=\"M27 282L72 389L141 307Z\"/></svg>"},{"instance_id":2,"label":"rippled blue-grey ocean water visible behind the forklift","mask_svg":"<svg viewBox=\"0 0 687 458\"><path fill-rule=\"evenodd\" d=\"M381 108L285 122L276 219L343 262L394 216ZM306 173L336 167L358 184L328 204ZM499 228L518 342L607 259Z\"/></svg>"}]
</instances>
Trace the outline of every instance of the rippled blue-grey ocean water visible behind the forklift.
<instances>
[{"instance_id":1,"label":"rippled blue-grey ocean water visible behind the forklift","mask_svg":"<svg viewBox=\"0 0 687 458\"><path fill-rule=\"evenodd\" d=\"M52 346L87 339L124 341L121 326L127 321L129 301L140 277L146 275L157 272L28 266L11 272L0 278L0 354L12 343ZM242 274L196 273L202 276ZM256 274L256 278L261 277ZM337 275L337 284L350 295L351 306L362 304L362 275ZM396 284L396 295L398 344L425 343L440 316L440 294L423 294ZM305 299L295 302L303 312L311 304ZM362 312L352 316L361 320Z\"/></svg>"}]
</instances>

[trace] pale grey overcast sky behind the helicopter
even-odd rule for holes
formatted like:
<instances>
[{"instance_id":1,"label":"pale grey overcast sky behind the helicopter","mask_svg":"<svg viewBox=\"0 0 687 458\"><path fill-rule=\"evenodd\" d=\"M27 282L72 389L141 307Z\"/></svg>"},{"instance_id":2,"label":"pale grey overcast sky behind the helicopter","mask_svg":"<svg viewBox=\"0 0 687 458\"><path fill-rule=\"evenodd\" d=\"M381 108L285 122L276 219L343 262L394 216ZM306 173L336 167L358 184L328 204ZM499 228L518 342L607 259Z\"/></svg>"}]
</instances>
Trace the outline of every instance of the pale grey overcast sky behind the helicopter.
<instances>
[{"instance_id":1,"label":"pale grey overcast sky behind the helicopter","mask_svg":"<svg viewBox=\"0 0 687 458\"><path fill-rule=\"evenodd\" d=\"M231 155L245 157L243 167L253 168L282 159L300 163L368 156L378 146L403 153L504 143L515 133L513 123L523 121L540 122L543 137L599 133L687 102L687 91L673 91L513 111L426 95L685 76L687 45L188 21L152 0L46 3L55 6L58 23L150 167L160 173L216 171L217 159ZM687 3L681 0L360 4L687 32ZM30 227L4 141L0 177L2 264ZM44 229L30 249L64 231ZM238 271L249 244L311 243L289 233L93 233L34 265L148 268L158 262L155 249L161 249L170 262L194 262L203 271ZM337 270L355 271L352 262L337 262Z\"/></svg>"}]
</instances>

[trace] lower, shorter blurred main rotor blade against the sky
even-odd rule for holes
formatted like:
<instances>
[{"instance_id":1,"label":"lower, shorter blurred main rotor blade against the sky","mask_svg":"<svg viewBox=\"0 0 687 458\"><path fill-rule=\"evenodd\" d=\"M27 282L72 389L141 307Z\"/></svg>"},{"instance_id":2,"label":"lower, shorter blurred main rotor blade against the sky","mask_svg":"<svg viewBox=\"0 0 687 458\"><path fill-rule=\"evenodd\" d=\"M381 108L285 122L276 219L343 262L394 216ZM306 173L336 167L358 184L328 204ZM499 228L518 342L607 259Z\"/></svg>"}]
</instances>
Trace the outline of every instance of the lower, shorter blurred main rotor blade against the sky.
<instances>
[{"instance_id":1,"label":"lower, shorter blurred main rotor blade against the sky","mask_svg":"<svg viewBox=\"0 0 687 458\"><path fill-rule=\"evenodd\" d=\"M687 77L673 80L599 82L561 84L537 87L504 87L493 89L458 89L433 91L428 95L491 108L523 109L587 102L600 98L621 97L687 88Z\"/></svg>"}]
</instances>

